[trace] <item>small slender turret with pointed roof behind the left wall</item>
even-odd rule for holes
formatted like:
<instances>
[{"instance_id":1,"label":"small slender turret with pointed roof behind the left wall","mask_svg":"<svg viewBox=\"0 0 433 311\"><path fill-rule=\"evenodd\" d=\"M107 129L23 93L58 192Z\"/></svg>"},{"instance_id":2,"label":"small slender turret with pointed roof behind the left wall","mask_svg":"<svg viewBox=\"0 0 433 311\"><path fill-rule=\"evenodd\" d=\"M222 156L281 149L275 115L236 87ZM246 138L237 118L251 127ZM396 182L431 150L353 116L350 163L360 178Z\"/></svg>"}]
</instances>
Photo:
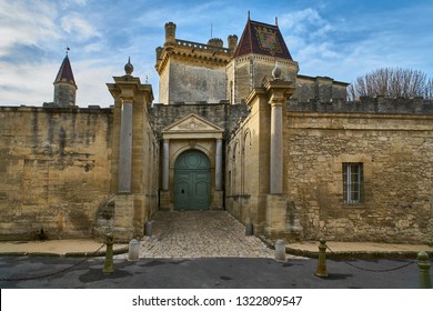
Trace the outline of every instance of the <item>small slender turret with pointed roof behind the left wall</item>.
<instances>
[{"instance_id":1,"label":"small slender turret with pointed roof behind the left wall","mask_svg":"<svg viewBox=\"0 0 433 311\"><path fill-rule=\"evenodd\" d=\"M68 54L64 57L54 80L54 104L57 107L75 106L77 84L73 79Z\"/></svg>"}]
</instances>

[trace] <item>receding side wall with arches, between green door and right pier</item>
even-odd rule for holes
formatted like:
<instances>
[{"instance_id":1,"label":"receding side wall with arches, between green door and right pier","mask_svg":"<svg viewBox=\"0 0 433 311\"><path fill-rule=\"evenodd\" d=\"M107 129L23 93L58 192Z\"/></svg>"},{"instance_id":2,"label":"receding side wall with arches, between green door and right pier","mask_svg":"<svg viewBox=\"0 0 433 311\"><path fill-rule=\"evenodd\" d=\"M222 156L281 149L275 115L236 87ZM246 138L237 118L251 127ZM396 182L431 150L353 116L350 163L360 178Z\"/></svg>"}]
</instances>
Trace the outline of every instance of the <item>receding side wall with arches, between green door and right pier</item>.
<instances>
[{"instance_id":1,"label":"receding side wall with arches, between green door and right pier","mask_svg":"<svg viewBox=\"0 0 433 311\"><path fill-rule=\"evenodd\" d=\"M244 104L246 106L246 104ZM255 234L266 224L269 193L270 107L260 93L249 103L250 114L232 132L226 146L225 208Z\"/></svg>"}]
</instances>

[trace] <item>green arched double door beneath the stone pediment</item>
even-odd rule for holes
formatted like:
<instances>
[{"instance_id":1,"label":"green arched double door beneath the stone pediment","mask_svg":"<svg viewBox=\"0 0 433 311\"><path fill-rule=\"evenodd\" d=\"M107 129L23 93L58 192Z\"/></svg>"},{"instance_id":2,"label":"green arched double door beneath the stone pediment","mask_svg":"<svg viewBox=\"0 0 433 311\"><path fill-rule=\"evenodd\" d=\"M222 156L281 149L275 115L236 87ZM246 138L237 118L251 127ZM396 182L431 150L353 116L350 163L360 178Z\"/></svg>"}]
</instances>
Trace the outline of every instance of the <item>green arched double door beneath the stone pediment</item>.
<instances>
[{"instance_id":1,"label":"green arched double door beneath the stone pediment","mask_svg":"<svg viewBox=\"0 0 433 311\"><path fill-rule=\"evenodd\" d=\"M174 163L174 208L177 210L209 209L211 164L201 151L182 152Z\"/></svg>"}]
</instances>

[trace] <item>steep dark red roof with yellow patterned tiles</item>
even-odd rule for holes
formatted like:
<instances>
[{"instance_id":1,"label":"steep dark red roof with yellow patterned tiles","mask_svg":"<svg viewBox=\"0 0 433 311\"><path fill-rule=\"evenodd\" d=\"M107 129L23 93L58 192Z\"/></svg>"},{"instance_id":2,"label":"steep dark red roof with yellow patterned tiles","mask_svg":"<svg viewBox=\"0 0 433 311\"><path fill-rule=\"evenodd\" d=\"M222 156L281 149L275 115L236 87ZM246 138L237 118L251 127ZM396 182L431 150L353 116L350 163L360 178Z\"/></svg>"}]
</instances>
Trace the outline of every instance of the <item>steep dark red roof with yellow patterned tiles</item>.
<instances>
[{"instance_id":1,"label":"steep dark red roof with yellow patterned tiles","mask_svg":"<svg viewBox=\"0 0 433 311\"><path fill-rule=\"evenodd\" d=\"M234 57L251 53L293 60L278 26L248 19Z\"/></svg>"}]
</instances>

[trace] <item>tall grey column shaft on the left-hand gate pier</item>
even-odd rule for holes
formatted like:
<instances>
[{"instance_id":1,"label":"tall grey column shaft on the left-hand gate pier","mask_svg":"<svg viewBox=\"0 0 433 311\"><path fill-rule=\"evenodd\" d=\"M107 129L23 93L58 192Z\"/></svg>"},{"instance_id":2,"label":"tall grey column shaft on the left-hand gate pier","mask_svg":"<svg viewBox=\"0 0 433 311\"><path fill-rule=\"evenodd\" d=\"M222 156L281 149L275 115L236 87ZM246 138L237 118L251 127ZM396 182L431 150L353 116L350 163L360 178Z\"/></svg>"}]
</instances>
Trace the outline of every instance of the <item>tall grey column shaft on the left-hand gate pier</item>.
<instances>
[{"instance_id":1,"label":"tall grey column shaft on the left-hand gate pier","mask_svg":"<svg viewBox=\"0 0 433 311\"><path fill-rule=\"evenodd\" d=\"M122 103L119 146L119 185L118 191L131 192L132 177L132 102Z\"/></svg>"}]
</instances>

